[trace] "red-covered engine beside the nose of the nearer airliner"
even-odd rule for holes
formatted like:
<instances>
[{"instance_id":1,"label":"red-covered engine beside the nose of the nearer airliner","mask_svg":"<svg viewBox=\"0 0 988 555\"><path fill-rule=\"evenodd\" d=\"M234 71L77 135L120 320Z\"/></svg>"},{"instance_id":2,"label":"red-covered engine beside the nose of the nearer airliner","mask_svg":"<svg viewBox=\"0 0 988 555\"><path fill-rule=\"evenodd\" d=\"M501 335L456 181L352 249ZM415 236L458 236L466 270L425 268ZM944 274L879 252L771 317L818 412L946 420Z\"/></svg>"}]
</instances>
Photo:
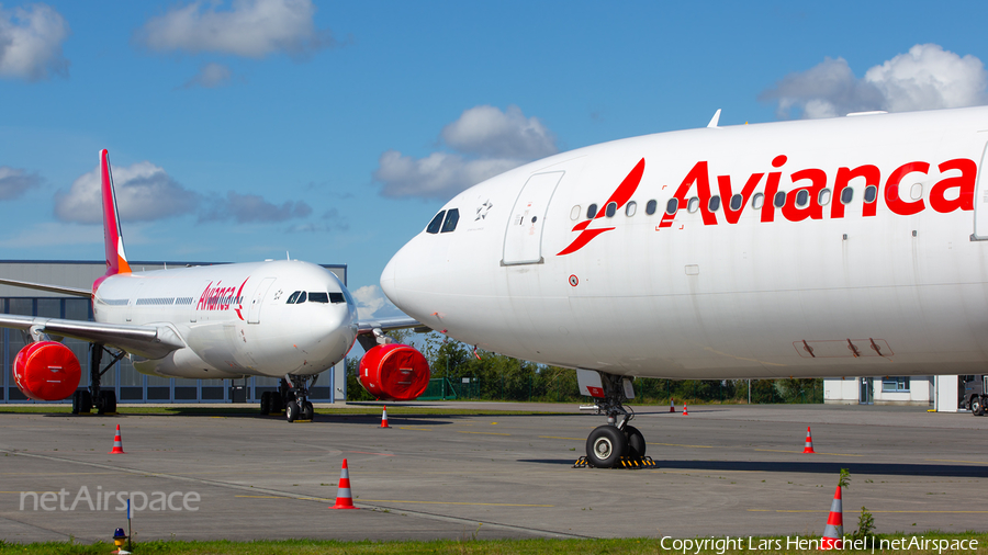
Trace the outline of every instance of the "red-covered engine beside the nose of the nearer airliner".
<instances>
[{"instance_id":1,"label":"red-covered engine beside the nose of the nearer airliner","mask_svg":"<svg viewBox=\"0 0 988 555\"><path fill-rule=\"evenodd\" d=\"M360 359L360 385L379 399L412 400L429 385L429 363L414 348L379 344Z\"/></svg>"}]
</instances>

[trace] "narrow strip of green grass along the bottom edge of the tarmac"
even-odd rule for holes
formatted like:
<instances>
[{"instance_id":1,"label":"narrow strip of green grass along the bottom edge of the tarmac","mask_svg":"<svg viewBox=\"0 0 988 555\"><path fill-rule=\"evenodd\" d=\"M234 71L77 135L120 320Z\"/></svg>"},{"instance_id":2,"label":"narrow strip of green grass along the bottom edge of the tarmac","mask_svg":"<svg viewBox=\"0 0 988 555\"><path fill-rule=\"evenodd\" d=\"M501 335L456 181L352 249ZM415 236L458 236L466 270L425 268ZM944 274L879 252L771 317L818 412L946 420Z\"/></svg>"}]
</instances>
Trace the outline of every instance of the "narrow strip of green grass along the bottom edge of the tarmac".
<instances>
[{"instance_id":1,"label":"narrow strip of green grass along the bottom edge of the tarmac","mask_svg":"<svg viewBox=\"0 0 988 555\"><path fill-rule=\"evenodd\" d=\"M481 532L482 534L482 532ZM977 540L978 547L975 551L963 553L988 553L988 533L962 532L942 533L927 532L925 534L879 534L878 539L921 537L936 540ZM751 539L752 545L759 545L762 540L778 540L784 546L782 550L749 550L749 539L742 537L741 550L721 551L716 547L699 550L688 553L703 554L773 554L773 553L807 553L818 554L818 551L800 551L785 548L784 536L755 536ZM666 540L666 546L671 542ZM104 555L112 551L112 542L85 545L69 542L49 542L34 544L4 543L0 541L0 555L7 554L53 554L53 555ZM501 554L534 554L534 555L564 555L571 553L594 553L596 555L625 555L625 554L655 554L655 553L682 553L663 548L662 541L652 537L619 539L619 540L476 540L474 532L464 532L459 540L438 540L431 542L339 542L332 540L284 540L284 541L257 541L257 542L181 542L181 541L154 541L142 542L134 545L135 555L161 554L161 555L308 555L308 554L472 554L472 555L501 555ZM944 550L944 553L952 552ZM838 553L871 553L866 552L838 552ZM919 553L936 553L935 550L875 550L875 553L895 553L899 555L912 555ZM952 553L958 553L956 551Z\"/></svg>"}]
</instances>

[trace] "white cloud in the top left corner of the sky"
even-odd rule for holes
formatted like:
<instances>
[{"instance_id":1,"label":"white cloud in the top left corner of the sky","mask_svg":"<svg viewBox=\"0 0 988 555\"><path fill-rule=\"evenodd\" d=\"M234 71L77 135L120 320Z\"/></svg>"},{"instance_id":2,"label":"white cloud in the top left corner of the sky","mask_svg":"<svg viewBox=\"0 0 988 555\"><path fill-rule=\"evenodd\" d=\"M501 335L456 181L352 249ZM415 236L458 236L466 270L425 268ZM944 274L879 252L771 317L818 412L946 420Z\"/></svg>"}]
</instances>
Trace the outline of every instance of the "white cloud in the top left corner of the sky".
<instances>
[{"instance_id":1,"label":"white cloud in the top left corner of the sky","mask_svg":"<svg viewBox=\"0 0 988 555\"><path fill-rule=\"evenodd\" d=\"M7 11L0 5L0 77L38 81L68 76L61 43L68 23L53 8L37 3Z\"/></svg>"}]
</instances>

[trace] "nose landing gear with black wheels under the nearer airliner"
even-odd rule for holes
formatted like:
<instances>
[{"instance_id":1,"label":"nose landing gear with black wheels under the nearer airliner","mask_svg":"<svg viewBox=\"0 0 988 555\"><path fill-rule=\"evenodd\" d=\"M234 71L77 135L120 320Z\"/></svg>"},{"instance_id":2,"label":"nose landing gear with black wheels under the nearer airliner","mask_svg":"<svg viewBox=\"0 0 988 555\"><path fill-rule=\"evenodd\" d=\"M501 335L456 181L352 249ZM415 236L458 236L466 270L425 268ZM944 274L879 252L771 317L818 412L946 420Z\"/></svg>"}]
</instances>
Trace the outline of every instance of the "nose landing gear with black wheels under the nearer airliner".
<instances>
[{"instance_id":1,"label":"nose landing gear with black wheels under the nearer airliner","mask_svg":"<svg viewBox=\"0 0 988 555\"><path fill-rule=\"evenodd\" d=\"M628 422L635 414L625 407L628 400L622 376L598 372L604 389L604 397L595 398L597 411L607 415L607 423L598 426L586 439L586 457L581 457L576 466L595 466L598 468L652 466L651 458L645 457L644 437ZM620 420L619 420L620 419Z\"/></svg>"}]
</instances>

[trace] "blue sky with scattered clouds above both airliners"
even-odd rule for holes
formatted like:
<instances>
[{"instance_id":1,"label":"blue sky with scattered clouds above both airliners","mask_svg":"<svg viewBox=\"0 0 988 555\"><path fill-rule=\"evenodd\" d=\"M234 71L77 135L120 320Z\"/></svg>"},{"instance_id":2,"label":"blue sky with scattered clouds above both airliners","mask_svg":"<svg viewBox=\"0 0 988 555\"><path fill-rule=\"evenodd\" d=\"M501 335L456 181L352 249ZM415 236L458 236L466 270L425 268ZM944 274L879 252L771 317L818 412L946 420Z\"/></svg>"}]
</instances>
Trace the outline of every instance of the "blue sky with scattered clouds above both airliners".
<instances>
[{"instance_id":1,"label":"blue sky with scattered clouds above both airliners","mask_svg":"<svg viewBox=\"0 0 988 555\"><path fill-rule=\"evenodd\" d=\"M458 190L605 140L984 104L948 2L4 2L0 258L384 264ZM379 312L379 314L382 314Z\"/></svg>"}]
</instances>

